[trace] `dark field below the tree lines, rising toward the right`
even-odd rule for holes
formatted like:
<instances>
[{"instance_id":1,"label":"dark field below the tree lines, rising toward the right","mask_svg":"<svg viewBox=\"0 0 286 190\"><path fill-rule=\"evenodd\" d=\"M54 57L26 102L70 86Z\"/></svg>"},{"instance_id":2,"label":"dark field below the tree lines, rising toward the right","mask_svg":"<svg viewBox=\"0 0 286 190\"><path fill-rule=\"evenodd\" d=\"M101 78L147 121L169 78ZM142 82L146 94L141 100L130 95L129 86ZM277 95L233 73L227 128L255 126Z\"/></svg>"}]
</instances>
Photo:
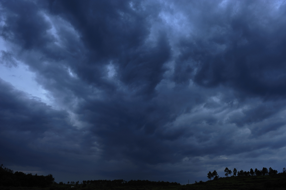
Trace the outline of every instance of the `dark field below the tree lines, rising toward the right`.
<instances>
[{"instance_id":1,"label":"dark field below the tree lines, rising toward the right","mask_svg":"<svg viewBox=\"0 0 286 190\"><path fill-rule=\"evenodd\" d=\"M286 175L285 173L279 173L276 175L267 176L241 176L241 177L223 177L217 180L194 183L190 185L171 185L168 182L163 182L161 185L158 182L151 181L133 181L133 183L123 184L83 184L71 185L71 184L52 184L45 188L36 187L0 187L2 190L57 190L57 189L82 189L82 190L214 190L214 189L286 189ZM153 183L153 184L150 184ZM72 187L74 186L74 187Z\"/></svg>"}]
</instances>

